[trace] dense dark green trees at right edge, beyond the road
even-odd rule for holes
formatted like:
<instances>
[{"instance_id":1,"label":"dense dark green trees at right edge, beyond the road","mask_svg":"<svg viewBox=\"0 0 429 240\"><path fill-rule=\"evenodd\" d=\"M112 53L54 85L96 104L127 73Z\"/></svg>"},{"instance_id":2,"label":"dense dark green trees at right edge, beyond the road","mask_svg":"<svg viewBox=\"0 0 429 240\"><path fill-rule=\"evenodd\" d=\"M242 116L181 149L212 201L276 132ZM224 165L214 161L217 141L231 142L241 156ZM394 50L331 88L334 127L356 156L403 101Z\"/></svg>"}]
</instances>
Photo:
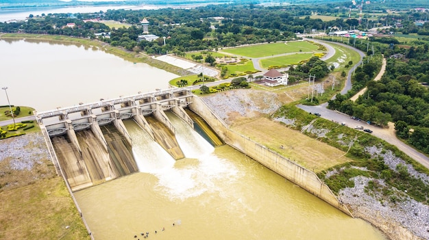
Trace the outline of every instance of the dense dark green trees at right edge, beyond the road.
<instances>
[{"instance_id":1,"label":"dense dark green trees at right edge, beyond the road","mask_svg":"<svg viewBox=\"0 0 429 240\"><path fill-rule=\"evenodd\" d=\"M337 95L329 107L382 125L393 121L398 137L429 153L429 90L425 85L429 82L429 42L413 41L384 53L390 57L380 81L370 81L377 61L358 68L355 91ZM365 85L367 92L358 101L347 100Z\"/></svg>"}]
</instances>

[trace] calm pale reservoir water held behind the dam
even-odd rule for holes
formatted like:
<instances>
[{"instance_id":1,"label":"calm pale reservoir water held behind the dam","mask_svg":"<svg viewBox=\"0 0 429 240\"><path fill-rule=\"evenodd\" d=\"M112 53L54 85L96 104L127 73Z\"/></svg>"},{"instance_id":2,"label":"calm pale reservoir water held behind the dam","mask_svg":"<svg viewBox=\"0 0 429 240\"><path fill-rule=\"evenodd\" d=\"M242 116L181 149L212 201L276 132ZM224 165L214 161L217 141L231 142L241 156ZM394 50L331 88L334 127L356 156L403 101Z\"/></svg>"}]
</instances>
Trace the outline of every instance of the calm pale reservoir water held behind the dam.
<instances>
[{"instance_id":1,"label":"calm pale reservoir water held behind the dam","mask_svg":"<svg viewBox=\"0 0 429 240\"><path fill-rule=\"evenodd\" d=\"M167 89L177 77L125 61L97 47L34 40L0 40L1 87L12 105L37 111ZM0 95L0 105L7 105Z\"/></svg>"}]
</instances>

